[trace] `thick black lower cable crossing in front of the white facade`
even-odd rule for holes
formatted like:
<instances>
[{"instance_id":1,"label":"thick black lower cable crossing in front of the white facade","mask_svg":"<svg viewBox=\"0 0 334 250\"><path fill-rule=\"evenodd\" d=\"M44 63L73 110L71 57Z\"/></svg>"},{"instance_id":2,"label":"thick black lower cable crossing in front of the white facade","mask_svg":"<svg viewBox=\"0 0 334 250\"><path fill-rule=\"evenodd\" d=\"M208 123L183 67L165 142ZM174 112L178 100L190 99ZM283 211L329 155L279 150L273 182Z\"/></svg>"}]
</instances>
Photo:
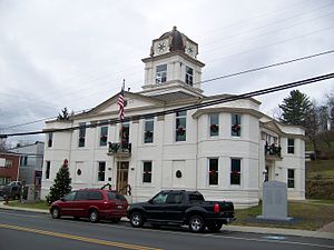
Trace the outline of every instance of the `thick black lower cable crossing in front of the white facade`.
<instances>
[{"instance_id":1,"label":"thick black lower cable crossing in front of the white facade","mask_svg":"<svg viewBox=\"0 0 334 250\"><path fill-rule=\"evenodd\" d=\"M318 81L328 80L332 78L334 78L334 73L322 74L322 76L314 77L314 78L308 78L308 79L289 82L289 83L285 83L285 84L281 84L281 86L276 86L276 87L272 87L272 88L256 90L256 91L252 91L252 92L247 92L247 93L243 93L243 94L236 94L236 96L230 96L230 97L226 97L226 98L220 98L220 99L213 100L213 101L202 102L202 103L197 103L197 104L190 104L190 106L186 106L183 108L175 108L175 109L169 109L169 110L148 113L148 114L137 114L137 116L126 118L125 121L126 122L134 121L134 120L137 121L140 119L166 116L166 114L170 114L170 113L175 113L175 112L199 109L199 108L205 108L205 107L209 107L209 106L214 106L214 104L220 104L220 103L225 103L225 102L236 101L236 100L240 100L240 99L253 98L256 96L272 93L272 92L276 92L276 91L281 91L281 90L285 90L285 89L289 89L289 88L295 88L295 87L299 87L299 86L305 86L305 84L310 84L310 83L314 83L314 82L318 82ZM40 133L49 133L49 132L73 131L73 130L78 130L80 128L97 128L97 127L101 127L101 126L106 126L106 124L117 124L117 123L120 123L119 119L110 119L109 121L106 121L106 122L87 124L85 127L76 126L76 127L65 128L65 129L50 129L47 131L39 130L39 131L22 132L22 133L8 133L8 134L0 134L0 138L31 136L31 134L40 134Z\"/></svg>"}]
</instances>

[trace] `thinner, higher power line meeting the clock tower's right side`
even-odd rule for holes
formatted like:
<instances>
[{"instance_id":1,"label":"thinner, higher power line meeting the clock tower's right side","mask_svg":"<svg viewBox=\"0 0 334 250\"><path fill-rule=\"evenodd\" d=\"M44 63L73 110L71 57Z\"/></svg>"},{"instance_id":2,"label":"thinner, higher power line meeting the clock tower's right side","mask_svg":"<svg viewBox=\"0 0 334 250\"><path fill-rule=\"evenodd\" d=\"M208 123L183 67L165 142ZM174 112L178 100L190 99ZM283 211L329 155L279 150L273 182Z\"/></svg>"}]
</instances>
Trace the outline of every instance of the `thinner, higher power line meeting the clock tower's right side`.
<instances>
[{"instance_id":1,"label":"thinner, higher power line meeting the clock tower's right side","mask_svg":"<svg viewBox=\"0 0 334 250\"><path fill-rule=\"evenodd\" d=\"M324 56L324 54L330 54L330 53L333 53L333 52L334 52L334 50L327 50L327 51L324 51L324 52L314 53L314 54L310 54L310 56L305 56L305 57L301 57L301 58L295 58L295 59L287 60L287 61L275 62L275 63L272 63L272 64L268 64L268 66L263 66L263 67L253 68L253 69L249 69L249 70L244 70L244 71L239 71L239 72L235 72L235 73L228 73L228 74L219 76L219 77L216 77L216 78L210 78L210 79L207 79L207 80L202 80L202 81L198 81L198 82L194 82L193 84L207 83L207 82L210 82L210 81L232 78L232 77L240 76L240 74L244 74L244 73L256 72L256 71L259 71L259 70L264 70L264 69L268 69L268 68L273 68L273 67L278 67L278 66L283 66L283 64L288 64L288 63L296 62L296 61L303 61L303 60L307 60L307 59L311 59L311 58L315 58L315 57L320 57L320 56ZM86 110L81 110L81 111L77 111L77 112L82 112L82 111L87 111L87 110L90 110L90 109L86 109ZM56 117L41 118L39 120L35 120L35 121L26 122L26 123L21 123L21 124L14 124L14 126L7 127L7 128L3 128L3 129L11 129L11 128L26 126L26 124L32 124L32 123L37 123L37 122L53 119L53 118L56 118Z\"/></svg>"}]
</instances>

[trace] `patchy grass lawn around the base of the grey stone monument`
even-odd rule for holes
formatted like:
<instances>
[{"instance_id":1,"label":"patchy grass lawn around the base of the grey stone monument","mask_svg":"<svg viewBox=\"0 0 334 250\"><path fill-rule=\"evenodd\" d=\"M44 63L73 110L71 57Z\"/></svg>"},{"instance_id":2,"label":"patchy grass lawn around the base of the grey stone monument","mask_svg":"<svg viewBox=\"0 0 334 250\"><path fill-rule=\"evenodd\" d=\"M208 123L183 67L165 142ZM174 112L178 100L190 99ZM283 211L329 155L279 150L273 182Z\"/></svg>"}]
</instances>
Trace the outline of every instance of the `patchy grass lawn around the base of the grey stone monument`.
<instances>
[{"instance_id":1,"label":"patchy grass lawn around the base of the grey stone monument","mask_svg":"<svg viewBox=\"0 0 334 250\"><path fill-rule=\"evenodd\" d=\"M288 217L291 222L257 220L262 214L262 204L244 210L236 210L237 220L233 224L249 227L289 228L302 230L317 230L334 221L334 202L323 200L289 201Z\"/></svg>"}]
</instances>

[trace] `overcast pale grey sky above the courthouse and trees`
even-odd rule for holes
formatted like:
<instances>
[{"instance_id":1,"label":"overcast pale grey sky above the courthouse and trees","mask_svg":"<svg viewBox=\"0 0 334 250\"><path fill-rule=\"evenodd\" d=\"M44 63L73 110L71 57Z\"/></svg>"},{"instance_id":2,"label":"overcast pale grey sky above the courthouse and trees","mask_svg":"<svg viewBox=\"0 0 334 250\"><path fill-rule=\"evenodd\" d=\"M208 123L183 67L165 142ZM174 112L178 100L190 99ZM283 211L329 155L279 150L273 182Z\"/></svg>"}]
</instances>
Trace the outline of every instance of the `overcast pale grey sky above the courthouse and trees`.
<instances>
[{"instance_id":1,"label":"overcast pale grey sky above the courthouse and trees","mask_svg":"<svg viewBox=\"0 0 334 250\"><path fill-rule=\"evenodd\" d=\"M203 80L334 49L333 0L0 0L0 130L92 108L144 84L143 58L173 26L199 46ZM334 53L203 84L206 96L243 93L334 71ZM301 87L312 100L327 80ZM291 90L257 99L267 114ZM13 128L9 128L13 127ZM36 137L12 138L35 140ZM38 139L42 139L39 137Z\"/></svg>"}]
</instances>

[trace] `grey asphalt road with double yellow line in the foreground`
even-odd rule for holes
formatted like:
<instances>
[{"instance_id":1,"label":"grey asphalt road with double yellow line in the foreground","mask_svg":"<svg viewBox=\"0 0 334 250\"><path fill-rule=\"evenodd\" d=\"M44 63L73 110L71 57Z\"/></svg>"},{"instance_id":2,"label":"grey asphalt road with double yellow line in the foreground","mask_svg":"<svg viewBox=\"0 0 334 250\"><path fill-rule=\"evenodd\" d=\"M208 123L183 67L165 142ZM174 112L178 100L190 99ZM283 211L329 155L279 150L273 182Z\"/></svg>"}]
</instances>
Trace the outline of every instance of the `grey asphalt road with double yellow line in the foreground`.
<instances>
[{"instance_id":1,"label":"grey asphalt road with double yellow line in the foreground","mask_svg":"<svg viewBox=\"0 0 334 250\"><path fill-rule=\"evenodd\" d=\"M242 233L190 233L186 228L134 229L127 222L53 220L49 214L0 209L0 250L307 250L334 249L334 240Z\"/></svg>"}]
</instances>

